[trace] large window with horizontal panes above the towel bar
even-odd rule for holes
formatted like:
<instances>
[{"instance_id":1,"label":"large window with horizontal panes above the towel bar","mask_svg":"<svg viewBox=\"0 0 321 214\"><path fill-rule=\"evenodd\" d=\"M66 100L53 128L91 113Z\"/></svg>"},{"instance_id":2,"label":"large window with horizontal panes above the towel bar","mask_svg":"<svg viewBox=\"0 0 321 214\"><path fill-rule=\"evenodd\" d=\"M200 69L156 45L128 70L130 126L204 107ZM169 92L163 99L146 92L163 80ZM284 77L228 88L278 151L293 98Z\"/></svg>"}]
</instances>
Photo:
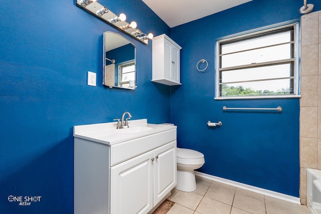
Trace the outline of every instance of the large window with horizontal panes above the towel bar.
<instances>
[{"instance_id":1,"label":"large window with horizontal panes above the towel bar","mask_svg":"<svg viewBox=\"0 0 321 214\"><path fill-rule=\"evenodd\" d=\"M297 95L297 26L218 41L216 99Z\"/></svg>"}]
</instances>

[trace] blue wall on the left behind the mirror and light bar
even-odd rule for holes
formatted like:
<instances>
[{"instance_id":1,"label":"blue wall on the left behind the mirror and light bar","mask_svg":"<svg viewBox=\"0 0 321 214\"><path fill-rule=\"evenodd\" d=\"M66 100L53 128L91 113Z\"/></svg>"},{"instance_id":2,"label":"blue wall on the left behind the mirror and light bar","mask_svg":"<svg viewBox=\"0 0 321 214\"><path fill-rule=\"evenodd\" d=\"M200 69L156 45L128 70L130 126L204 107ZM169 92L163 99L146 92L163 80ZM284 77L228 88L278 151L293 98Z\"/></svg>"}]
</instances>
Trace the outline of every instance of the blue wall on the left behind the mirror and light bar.
<instances>
[{"instance_id":1,"label":"blue wall on the left behind the mirror and light bar","mask_svg":"<svg viewBox=\"0 0 321 214\"><path fill-rule=\"evenodd\" d=\"M170 35L140 0L99 2L145 33ZM137 88L104 87L103 33L120 31L73 0L14 0L0 14L0 213L73 213L73 126L112 122L124 111L169 122L170 87L150 81L151 44L127 36ZM97 87L87 86L87 71L97 73ZM19 206L10 195L41 198Z\"/></svg>"}]
</instances>

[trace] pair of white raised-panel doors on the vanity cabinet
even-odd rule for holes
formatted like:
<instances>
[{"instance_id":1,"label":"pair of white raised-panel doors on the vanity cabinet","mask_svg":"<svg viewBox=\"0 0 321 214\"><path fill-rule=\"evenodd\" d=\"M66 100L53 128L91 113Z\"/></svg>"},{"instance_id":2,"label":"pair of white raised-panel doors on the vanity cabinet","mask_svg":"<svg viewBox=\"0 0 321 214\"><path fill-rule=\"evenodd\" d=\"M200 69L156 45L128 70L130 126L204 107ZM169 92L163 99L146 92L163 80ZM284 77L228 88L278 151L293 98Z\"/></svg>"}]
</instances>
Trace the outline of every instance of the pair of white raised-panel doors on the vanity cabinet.
<instances>
[{"instance_id":1,"label":"pair of white raised-panel doors on the vanity cabinet","mask_svg":"<svg viewBox=\"0 0 321 214\"><path fill-rule=\"evenodd\" d=\"M176 185L176 141L111 167L110 213L148 213Z\"/></svg>"}]
</instances>

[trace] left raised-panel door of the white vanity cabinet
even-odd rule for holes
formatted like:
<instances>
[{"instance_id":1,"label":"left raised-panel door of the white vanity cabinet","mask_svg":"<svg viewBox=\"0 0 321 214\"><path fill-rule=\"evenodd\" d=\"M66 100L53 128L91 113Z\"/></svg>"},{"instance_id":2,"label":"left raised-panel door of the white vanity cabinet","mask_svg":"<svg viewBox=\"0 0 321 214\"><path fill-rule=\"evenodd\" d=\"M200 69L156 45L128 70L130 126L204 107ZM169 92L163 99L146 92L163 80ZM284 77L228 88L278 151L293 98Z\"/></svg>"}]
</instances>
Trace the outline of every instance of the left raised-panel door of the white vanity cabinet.
<instances>
[{"instance_id":1,"label":"left raised-panel door of the white vanity cabinet","mask_svg":"<svg viewBox=\"0 0 321 214\"><path fill-rule=\"evenodd\" d=\"M111 167L110 213L147 213L152 201L152 151Z\"/></svg>"}]
</instances>

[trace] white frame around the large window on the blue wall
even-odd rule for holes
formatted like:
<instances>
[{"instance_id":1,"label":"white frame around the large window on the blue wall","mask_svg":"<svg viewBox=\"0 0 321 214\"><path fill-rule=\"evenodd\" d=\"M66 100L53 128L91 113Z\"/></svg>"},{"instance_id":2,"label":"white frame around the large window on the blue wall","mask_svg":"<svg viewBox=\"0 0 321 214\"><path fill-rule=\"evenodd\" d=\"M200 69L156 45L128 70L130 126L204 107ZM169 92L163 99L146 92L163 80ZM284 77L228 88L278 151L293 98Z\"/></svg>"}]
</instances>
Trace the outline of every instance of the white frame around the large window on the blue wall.
<instances>
[{"instance_id":1,"label":"white frame around the large window on the blue wall","mask_svg":"<svg viewBox=\"0 0 321 214\"><path fill-rule=\"evenodd\" d=\"M290 28L293 27L293 60L288 59L288 60L280 60L280 62L284 61L293 61L294 64L294 88L293 92L294 94L287 94L287 95L261 95L261 96L220 96L220 44L221 43L226 43L226 42L231 42L231 41L237 41L240 39L246 39L246 38L252 38L254 36L266 34L269 32L273 31L279 31L282 29ZM281 25L279 24L277 27L266 27L265 30L259 29L259 30L253 30L250 33L248 32L243 32L238 35L230 35L224 38L219 38L216 41L216 69L215 69L215 77L216 77L216 86L215 86L215 98L217 100L224 100L224 99L269 99L269 98L295 98L295 97L300 97L300 92L299 92L299 23L291 23L291 24L286 24L286 25ZM276 62L276 61L275 61ZM275 63L274 62L274 63ZM263 62L263 63L257 63L255 67L259 66L269 66L270 62ZM241 69L241 68L255 68L254 66L235 66L235 68ZM230 67L233 68L233 67ZM224 70L224 69L223 69ZM277 79L277 78L275 78ZM243 81L247 82L247 81ZM250 81L249 81L250 82Z\"/></svg>"}]
</instances>

